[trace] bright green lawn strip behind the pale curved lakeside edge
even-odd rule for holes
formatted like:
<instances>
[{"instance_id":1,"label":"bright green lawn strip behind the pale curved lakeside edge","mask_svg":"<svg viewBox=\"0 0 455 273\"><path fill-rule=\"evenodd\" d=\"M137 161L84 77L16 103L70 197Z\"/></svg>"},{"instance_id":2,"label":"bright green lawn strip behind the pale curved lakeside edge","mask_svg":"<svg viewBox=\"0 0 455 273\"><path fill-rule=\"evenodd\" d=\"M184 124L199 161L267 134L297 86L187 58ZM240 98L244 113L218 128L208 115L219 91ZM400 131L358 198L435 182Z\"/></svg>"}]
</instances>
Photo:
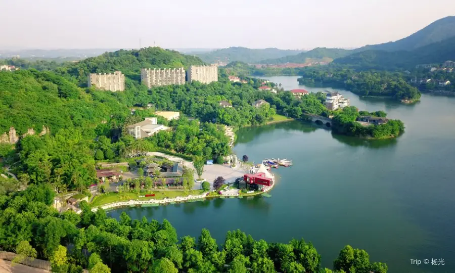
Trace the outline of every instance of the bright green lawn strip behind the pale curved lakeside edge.
<instances>
[{"instance_id":1,"label":"bright green lawn strip behind the pale curved lakeside edge","mask_svg":"<svg viewBox=\"0 0 455 273\"><path fill-rule=\"evenodd\" d=\"M164 198L175 198L175 197L185 197L189 195L200 195L204 191L203 190L193 190L193 191L173 191L173 190L162 190L162 191L149 191L148 194L155 194L155 196L150 196L150 197L139 197L139 195L145 195L145 193L108 193L108 194L103 194L96 196L92 203L90 203L91 207L98 207L102 205L106 205L109 203L113 202L121 202L121 201L129 201L129 200L140 200L140 201L146 201L146 200L160 200ZM123 198L122 198L123 197Z\"/></svg>"}]
</instances>

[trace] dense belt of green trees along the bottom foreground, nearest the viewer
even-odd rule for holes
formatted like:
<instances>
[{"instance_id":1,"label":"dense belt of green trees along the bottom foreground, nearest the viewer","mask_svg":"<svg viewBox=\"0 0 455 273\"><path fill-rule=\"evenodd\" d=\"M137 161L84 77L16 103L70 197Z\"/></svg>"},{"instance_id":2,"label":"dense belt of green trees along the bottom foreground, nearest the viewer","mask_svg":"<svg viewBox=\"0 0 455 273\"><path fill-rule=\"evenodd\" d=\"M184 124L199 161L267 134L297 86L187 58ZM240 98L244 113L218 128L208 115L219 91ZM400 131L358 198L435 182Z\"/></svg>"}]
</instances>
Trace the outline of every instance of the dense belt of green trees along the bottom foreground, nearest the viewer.
<instances>
[{"instance_id":1,"label":"dense belt of green trees along the bottom foreground, nearest the viewer","mask_svg":"<svg viewBox=\"0 0 455 273\"><path fill-rule=\"evenodd\" d=\"M82 272L387 272L387 265L371 262L365 250L345 246L333 261L334 271L321 268L321 255L303 239L289 243L254 240L237 230L219 244L208 230L196 239L179 238L171 223L154 219L120 220L103 209L59 214L49 207L54 190L30 186L0 196L0 247L22 256L48 259L52 271Z\"/></svg>"}]
</instances>

